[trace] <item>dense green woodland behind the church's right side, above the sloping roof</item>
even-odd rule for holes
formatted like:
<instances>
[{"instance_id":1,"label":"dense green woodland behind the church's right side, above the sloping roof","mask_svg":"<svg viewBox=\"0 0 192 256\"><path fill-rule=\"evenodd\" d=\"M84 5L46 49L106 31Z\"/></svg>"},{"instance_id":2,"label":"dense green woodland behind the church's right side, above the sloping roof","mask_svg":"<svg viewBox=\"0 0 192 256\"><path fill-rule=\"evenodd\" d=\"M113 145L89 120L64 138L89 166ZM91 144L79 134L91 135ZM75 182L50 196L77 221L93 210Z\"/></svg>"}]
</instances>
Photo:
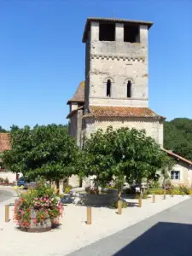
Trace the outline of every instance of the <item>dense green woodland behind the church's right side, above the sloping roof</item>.
<instances>
[{"instance_id":1,"label":"dense green woodland behind the church's right side, above the sloping roof","mask_svg":"<svg viewBox=\"0 0 192 256\"><path fill-rule=\"evenodd\" d=\"M164 147L192 160L192 119L165 122Z\"/></svg>"}]
</instances>

